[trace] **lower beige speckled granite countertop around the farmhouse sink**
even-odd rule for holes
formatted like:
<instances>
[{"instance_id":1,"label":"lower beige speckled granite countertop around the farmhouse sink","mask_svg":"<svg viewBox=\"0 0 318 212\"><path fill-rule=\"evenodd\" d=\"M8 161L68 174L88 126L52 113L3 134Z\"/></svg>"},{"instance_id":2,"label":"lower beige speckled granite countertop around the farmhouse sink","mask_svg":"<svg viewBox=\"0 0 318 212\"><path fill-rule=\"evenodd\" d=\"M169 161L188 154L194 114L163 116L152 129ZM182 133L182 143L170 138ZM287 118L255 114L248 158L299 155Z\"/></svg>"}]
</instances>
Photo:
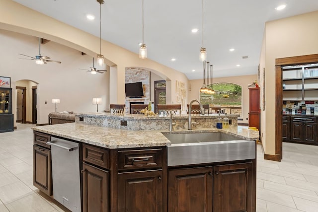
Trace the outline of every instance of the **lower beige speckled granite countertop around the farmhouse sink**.
<instances>
[{"instance_id":1,"label":"lower beige speckled granite countertop around the farmhouse sink","mask_svg":"<svg viewBox=\"0 0 318 212\"><path fill-rule=\"evenodd\" d=\"M85 125L80 123L67 123L58 125L46 125L31 128L34 131L50 134L83 143L89 143L105 148L134 148L170 145L170 141L163 135L168 133L203 133L224 132L238 136L248 141L258 140L258 131L237 127L225 129L206 128L191 131L129 131L107 128L102 126Z\"/></svg>"}]
</instances>

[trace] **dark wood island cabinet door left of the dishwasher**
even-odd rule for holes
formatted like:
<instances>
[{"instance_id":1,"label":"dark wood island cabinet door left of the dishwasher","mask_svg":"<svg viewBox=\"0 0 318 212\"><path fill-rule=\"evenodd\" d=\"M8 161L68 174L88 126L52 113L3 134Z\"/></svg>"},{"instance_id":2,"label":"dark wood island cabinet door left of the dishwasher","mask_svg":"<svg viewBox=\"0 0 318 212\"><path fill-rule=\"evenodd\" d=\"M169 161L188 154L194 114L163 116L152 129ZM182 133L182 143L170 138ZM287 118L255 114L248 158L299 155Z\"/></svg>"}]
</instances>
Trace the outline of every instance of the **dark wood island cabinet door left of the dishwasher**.
<instances>
[{"instance_id":1,"label":"dark wood island cabinet door left of the dishwasher","mask_svg":"<svg viewBox=\"0 0 318 212\"><path fill-rule=\"evenodd\" d=\"M33 185L49 196L53 194L51 151L36 145L33 145Z\"/></svg>"}]
</instances>

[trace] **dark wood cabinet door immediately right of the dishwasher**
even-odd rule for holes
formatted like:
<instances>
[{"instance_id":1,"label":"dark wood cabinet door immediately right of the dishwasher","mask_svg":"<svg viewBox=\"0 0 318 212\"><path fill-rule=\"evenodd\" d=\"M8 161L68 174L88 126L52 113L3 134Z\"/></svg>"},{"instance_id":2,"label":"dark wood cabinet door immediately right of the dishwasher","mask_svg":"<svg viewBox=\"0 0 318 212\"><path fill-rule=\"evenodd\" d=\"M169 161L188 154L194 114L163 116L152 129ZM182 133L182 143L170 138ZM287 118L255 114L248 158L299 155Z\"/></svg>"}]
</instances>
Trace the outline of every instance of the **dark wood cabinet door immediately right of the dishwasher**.
<instances>
[{"instance_id":1,"label":"dark wood cabinet door immediately right of the dishwasher","mask_svg":"<svg viewBox=\"0 0 318 212\"><path fill-rule=\"evenodd\" d=\"M83 212L109 211L109 172L83 163Z\"/></svg>"}]
</instances>

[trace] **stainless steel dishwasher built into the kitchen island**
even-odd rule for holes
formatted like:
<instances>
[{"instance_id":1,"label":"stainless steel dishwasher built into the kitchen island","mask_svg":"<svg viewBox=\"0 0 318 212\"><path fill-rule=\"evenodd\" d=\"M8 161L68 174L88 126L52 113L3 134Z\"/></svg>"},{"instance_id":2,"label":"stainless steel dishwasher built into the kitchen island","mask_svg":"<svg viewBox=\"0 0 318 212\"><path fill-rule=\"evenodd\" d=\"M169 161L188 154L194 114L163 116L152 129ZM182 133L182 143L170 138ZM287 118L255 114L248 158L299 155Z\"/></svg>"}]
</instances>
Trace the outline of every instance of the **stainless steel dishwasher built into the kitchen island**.
<instances>
[{"instance_id":1,"label":"stainless steel dishwasher built into the kitchen island","mask_svg":"<svg viewBox=\"0 0 318 212\"><path fill-rule=\"evenodd\" d=\"M71 210L80 212L79 143L51 137L53 197Z\"/></svg>"}]
</instances>

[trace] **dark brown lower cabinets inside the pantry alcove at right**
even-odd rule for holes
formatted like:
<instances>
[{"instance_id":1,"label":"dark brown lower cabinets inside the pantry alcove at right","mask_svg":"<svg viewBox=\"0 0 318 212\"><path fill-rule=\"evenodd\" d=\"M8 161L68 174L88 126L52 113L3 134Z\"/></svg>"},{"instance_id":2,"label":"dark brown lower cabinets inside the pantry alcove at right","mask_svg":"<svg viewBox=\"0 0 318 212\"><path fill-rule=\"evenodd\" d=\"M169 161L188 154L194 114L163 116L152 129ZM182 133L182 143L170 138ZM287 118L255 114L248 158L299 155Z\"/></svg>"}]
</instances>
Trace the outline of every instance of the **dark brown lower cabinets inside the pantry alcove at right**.
<instances>
[{"instance_id":1,"label":"dark brown lower cabinets inside the pantry alcove at right","mask_svg":"<svg viewBox=\"0 0 318 212\"><path fill-rule=\"evenodd\" d=\"M283 130L283 141L294 141L294 142L301 142L301 143L307 143L307 144L318 144L317 117L283 116L282 130Z\"/></svg>"}]
</instances>

